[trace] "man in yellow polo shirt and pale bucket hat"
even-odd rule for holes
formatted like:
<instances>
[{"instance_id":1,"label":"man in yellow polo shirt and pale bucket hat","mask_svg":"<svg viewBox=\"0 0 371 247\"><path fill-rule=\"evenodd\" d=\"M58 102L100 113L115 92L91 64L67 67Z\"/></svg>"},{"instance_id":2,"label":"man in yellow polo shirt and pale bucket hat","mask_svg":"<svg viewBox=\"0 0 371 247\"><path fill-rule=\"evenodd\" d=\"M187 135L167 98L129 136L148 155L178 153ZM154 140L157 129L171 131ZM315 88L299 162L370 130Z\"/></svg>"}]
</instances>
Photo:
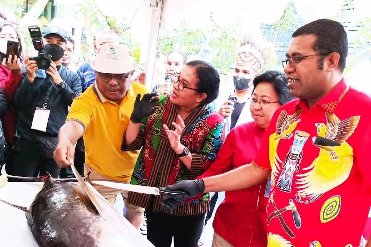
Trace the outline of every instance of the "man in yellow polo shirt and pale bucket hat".
<instances>
[{"instance_id":1,"label":"man in yellow polo shirt and pale bucket hat","mask_svg":"<svg viewBox=\"0 0 371 247\"><path fill-rule=\"evenodd\" d=\"M137 94L144 95L148 89L132 82L133 61L125 45L102 45L91 67L96 71L96 82L73 101L59 131L54 159L60 167L73 163L74 145L83 136L84 170L89 180L130 183L139 152L121 152L122 133L130 121ZM121 192L127 208L125 217L139 229L144 208L128 204L127 191L92 185L111 204Z\"/></svg>"}]
</instances>

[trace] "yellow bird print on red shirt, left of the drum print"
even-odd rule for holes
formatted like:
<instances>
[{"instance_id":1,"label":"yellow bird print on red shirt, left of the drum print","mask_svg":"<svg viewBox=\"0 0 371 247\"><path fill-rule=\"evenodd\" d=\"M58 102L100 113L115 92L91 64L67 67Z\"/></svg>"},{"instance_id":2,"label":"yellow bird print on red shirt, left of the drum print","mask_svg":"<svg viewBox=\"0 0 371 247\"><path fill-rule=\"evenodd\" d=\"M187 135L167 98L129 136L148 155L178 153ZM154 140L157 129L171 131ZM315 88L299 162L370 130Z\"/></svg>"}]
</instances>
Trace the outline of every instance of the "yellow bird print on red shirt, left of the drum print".
<instances>
[{"instance_id":1,"label":"yellow bird print on red shirt, left of the drum print","mask_svg":"<svg viewBox=\"0 0 371 247\"><path fill-rule=\"evenodd\" d=\"M292 115L287 115L285 110L282 110L278 116L276 122L276 132L269 136L269 162L272 168L272 178L271 183L274 185L275 177L278 175L278 171L281 169L280 164L282 164L281 159L277 155L277 147L280 139L290 139L292 137L292 132L296 128L296 125L301 120L298 119L301 110L296 111Z\"/></svg>"}]
</instances>

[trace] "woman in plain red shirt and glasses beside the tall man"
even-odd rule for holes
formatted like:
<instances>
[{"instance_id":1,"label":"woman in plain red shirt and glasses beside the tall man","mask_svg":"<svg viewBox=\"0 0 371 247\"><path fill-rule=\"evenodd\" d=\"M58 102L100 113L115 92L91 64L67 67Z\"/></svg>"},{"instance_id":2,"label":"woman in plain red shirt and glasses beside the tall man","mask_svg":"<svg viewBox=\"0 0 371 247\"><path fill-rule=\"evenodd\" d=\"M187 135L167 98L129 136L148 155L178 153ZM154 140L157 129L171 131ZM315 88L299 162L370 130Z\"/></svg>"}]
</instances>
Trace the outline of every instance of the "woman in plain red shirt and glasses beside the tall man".
<instances>
[{"instance_id":1,"label":"woman in plain red shirt and glasses beside the tall man","mask_svg":"<svg viewBox=\"0 0 371 247\"><path fill-rule=\"evenodd\" d=\"M269 70L253 80L250 112L254 122L232 129L217 154L216 160L198 178L222 174L255 158L273 113L293 97L285 74ZM245 190L226 192L214 222L213 247L266 247L267 181Z\"/></svg>"}]
</instances>

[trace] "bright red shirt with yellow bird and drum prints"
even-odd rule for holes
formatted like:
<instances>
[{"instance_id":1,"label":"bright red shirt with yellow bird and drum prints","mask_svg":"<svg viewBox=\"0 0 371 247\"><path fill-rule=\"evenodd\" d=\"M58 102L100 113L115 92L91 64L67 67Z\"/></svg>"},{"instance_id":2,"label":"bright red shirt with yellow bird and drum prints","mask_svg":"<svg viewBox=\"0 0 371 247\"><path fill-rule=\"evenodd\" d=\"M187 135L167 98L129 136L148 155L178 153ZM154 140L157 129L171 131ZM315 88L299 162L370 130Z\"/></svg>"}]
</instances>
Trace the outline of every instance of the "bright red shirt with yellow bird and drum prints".
<instances>
[{"instance_id":1,"label":"bright red shirt with yellow bird and drum prints","mask_svg":"<svg viewBox=\"0 0 371 247\"><path fill-rule=\"evenodd\" d=\"M273 115L253 161L271 171L268 246L359 246L371 203L370 107L343 79L310 109L296 99Z\"/></svg>"}]
</instances>

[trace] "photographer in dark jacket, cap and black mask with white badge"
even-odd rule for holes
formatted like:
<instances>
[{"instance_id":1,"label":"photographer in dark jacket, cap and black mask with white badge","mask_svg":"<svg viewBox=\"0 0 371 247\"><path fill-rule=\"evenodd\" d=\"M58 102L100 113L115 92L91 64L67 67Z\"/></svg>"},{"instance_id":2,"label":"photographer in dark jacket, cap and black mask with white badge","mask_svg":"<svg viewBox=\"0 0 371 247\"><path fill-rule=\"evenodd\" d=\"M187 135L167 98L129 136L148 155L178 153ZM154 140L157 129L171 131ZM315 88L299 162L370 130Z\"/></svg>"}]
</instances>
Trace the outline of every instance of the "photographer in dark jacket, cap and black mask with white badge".
<instances>
[{"instance_id":1,"label":"photographer in dark jacket, cap and black mask with white badge","mask_svg":"<svg viewBox=\"0 0 371 247\"><path fill-rule=\"evenodd\" d=\"M25 59L26 72L14 100L19 111L19 152L14 156L13 174L58 178L60 168L53 159L58 132L66 121L68 106L81 93L79 76L62 66L66 33L56 26L42 32L44 53L51 56L47 70L37 67L30 56Z\"/></svg>"}]
</instances>

